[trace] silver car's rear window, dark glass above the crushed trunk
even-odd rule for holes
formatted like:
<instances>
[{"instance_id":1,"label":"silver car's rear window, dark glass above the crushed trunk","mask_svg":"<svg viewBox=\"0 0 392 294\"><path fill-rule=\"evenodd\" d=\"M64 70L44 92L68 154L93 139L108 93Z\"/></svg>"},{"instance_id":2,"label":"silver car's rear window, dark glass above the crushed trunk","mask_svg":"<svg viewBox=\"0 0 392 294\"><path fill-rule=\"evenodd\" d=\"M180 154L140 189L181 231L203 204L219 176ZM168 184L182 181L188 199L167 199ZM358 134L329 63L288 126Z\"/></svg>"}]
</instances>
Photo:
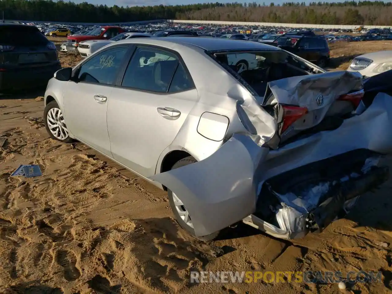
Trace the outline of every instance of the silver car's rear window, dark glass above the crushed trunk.
<instances>
[{"instance_id":1,"label":"silver car's rear window, dark glass above the crushed trunk","mask_svg":"<svg viewBox=\"0 0 392 294\"><path fill-rule=\"evenodd\" d=\"M283 50L210 54L230 73L238 74L242 78L240 82L245 82L245 86L250 87L251 92L258 96L264 96L268 82L324 72L316 65L313 67Z\"/></svg>"}]
</instances>

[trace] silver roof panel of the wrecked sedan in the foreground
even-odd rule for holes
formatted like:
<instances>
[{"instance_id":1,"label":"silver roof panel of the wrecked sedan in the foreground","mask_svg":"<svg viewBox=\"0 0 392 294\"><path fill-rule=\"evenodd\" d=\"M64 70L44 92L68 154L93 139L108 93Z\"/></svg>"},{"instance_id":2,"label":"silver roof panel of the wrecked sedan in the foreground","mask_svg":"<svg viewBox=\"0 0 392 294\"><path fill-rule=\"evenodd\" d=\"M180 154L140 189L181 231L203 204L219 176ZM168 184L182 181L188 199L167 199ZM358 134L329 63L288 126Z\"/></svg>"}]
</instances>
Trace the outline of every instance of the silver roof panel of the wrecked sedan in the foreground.
<instances>
[{"instance_id":1,"label":"silver roof panel of the wrecked sedan in the foreground","mask_svg":"<svg viewBox=\"0 0 392 294\"><path fill-rule=\"evenodd\" d=\"M223 39L223 38L203 38L203 37L165 37L165 38L134 38L118 41L117 43L140 43L151 45L162 45L170 47L170 44L180 44L194 46L206 51L235 51L235 50L281 50L277 47L251 41Z\"/></svg>"}]
</instances>

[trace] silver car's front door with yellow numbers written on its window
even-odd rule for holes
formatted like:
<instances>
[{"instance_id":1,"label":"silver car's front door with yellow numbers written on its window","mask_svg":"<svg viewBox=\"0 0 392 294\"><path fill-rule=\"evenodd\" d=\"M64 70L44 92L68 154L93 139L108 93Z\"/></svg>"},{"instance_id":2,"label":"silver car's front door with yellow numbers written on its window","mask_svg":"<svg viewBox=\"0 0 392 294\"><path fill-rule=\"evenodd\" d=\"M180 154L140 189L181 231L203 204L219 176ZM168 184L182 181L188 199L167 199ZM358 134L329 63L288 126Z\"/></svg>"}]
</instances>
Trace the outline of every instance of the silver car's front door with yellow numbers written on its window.
<instances>
[{"instance_id":1,"label":"silver car's front door with yellow numbers written on its window","mask_svg":"<svg viewBox=\"0 0 392 294\"><path fill-rule=\"evenodd\" d=\"M128 46L111 47L76 70L64 90L67 127L78 140L112 157L106 114Z\"/></svg>"}]
</instances>

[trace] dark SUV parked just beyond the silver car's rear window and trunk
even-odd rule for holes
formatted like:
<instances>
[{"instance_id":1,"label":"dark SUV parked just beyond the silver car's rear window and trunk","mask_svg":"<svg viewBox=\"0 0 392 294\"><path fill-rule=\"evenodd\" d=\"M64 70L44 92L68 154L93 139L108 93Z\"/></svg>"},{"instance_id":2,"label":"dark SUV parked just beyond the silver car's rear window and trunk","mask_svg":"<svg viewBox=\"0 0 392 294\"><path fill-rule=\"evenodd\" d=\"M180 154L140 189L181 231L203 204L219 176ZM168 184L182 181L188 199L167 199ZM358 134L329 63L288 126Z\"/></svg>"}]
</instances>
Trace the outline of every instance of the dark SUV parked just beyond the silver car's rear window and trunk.
<instances>
[{"instance_id":1,"label":"dark SUV parked just beyond the silver car's rear window and trunk","mask_svg":"<svg viewBox=\"0 0 392 294\"><path fill-rule=\"evenodd\" d=\"M298 36L293 34L283 34L268 43L289 51L303 59L325 67L329 63L329 47L325 38L319 36Z\"/></svg>"}]
</instances>

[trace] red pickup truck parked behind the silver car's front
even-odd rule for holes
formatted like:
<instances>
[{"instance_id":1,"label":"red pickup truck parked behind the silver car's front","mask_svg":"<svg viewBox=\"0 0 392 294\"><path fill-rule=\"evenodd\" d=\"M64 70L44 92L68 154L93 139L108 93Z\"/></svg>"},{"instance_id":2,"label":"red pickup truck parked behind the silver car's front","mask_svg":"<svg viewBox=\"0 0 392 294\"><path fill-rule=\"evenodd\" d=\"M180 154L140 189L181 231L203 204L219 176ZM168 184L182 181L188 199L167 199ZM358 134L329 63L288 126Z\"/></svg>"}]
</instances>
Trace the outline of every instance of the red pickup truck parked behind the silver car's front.
<instances>
[{"instance_id":1,"label":"red pickup truck parked behind the silver car's front","mask_svg":"<svg viewBox=\"0 0 392 294\"><path fill-rule=\"evenodd\" d=\"M114 36L117 36L120 33L125 32L121 27L113 27L113 26L104 26L97 27L93 29L93 31L89 32L85 35L73 35L68 36L67 44L65 48L69 53L79 54L78 47L79 43L86 40L102 40L102 39L111 39Z\"/></svg>"}]
</instances>

